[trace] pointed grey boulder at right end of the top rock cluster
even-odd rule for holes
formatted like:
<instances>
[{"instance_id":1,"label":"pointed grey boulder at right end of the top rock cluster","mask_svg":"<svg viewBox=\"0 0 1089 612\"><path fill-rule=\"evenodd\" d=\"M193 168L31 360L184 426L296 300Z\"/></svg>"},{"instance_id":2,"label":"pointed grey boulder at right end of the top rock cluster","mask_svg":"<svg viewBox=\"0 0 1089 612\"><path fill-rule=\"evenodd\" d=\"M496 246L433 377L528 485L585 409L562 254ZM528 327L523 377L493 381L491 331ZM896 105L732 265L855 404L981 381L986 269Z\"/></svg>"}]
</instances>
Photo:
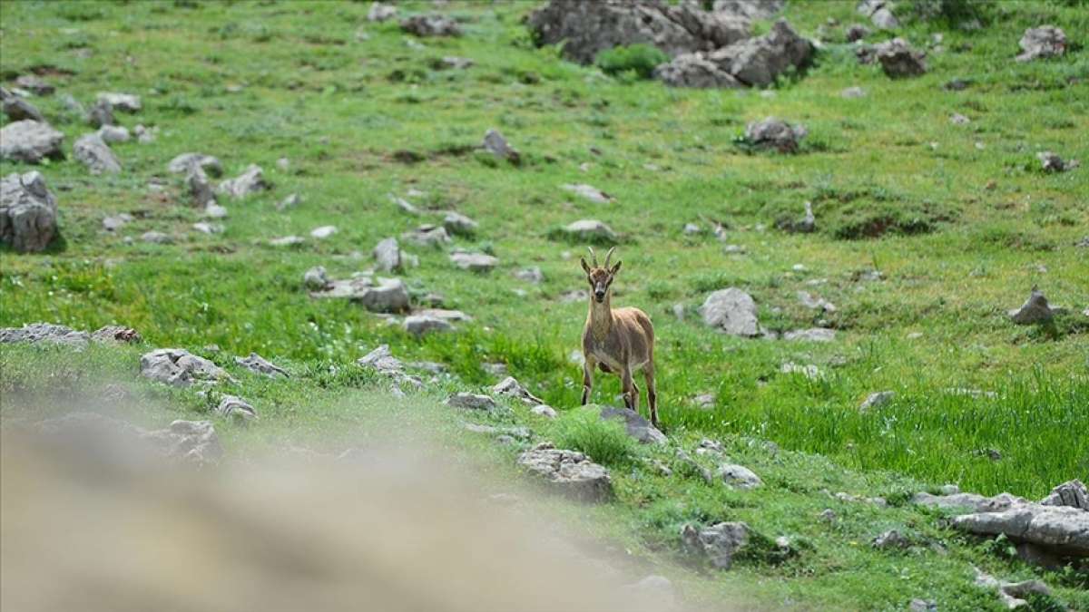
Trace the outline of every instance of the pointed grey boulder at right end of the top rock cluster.
<instances>
[{"instance_id":1,"label":"pointed grey boulder at right end of the top rock cluster","mask_svg":"<svg viewBox=\"0 0 1089 612\"><path fill-rule=\"evenodd\" d=\"M738 81L767 87L787 69L808 64L813 46L798 36L786 20L779 20L768 34L737 42L722 54L731 59L729 72Z\"/></svg>"}]
</instances>

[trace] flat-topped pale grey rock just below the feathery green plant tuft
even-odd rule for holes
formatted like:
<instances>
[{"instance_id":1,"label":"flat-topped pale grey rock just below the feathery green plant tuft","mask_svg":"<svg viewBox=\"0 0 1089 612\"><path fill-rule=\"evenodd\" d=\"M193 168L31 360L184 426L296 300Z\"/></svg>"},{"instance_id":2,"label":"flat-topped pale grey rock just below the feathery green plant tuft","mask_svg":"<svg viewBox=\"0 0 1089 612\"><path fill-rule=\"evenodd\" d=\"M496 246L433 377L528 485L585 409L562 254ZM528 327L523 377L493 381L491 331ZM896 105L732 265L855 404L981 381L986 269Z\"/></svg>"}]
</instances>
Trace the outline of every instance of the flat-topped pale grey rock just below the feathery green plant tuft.
<instances>
[{"instance_id":1,"label":"flat-topped pale grey rock just below the feathery green plant tuft","mask_svg":"<svg viewBox=\"0 0 1089 612\"><path fill-rule=\"evenodd\" d=\"M604 502L613 494L608 469L583 453L555 449L549 442L518 455L518 465L556 492L580 501Z\"/></svg>"}]
</instances>

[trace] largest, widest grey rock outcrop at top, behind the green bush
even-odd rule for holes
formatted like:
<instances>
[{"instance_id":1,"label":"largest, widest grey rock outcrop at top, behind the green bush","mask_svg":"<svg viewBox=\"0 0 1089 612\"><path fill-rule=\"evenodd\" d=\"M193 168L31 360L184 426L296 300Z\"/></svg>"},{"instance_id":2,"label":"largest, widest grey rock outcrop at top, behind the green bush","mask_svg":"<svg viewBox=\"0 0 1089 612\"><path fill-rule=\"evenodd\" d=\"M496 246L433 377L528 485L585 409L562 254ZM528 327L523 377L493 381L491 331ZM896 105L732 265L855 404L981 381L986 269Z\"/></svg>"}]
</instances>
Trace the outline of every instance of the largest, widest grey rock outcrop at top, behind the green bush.
<instances>
[{"instance_id":1,"label":"largest, widest grey rock outcrop at top, behind the green bush","mask_svg":"<svg viewBox=\"0 0 1089 612\"><path fill-rule=\"evenodd\" d=\"M672 57L749 36L747 19L706 11L695 2L660 0L551 0L529 14L527 25L539 45L564 41L564 57L583 64L621 45L651 45Z\"/></svg>"}]
</instances>

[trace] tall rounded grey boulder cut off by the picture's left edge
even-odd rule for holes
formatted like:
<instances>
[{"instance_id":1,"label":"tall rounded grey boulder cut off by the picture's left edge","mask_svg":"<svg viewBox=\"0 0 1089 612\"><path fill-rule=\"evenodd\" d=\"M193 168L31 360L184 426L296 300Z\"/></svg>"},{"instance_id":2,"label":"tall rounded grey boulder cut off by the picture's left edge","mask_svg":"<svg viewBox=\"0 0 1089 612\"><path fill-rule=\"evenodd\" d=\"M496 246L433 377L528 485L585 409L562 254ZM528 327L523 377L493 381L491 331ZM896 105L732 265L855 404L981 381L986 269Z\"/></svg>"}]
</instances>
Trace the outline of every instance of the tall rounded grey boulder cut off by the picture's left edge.
<instances>
[{"instance_id":1,"label":"tall rounded grey boulder cut off by the picture's left edge","mask_svg":"<svg viewBox=\"0 0 1089 612\"><path fill-rule=\"evenodd\" d=\"M57 234L57 198L39 172L0 180L0 242L20 253L45 249Z\"/></svg>"}]
</instances>

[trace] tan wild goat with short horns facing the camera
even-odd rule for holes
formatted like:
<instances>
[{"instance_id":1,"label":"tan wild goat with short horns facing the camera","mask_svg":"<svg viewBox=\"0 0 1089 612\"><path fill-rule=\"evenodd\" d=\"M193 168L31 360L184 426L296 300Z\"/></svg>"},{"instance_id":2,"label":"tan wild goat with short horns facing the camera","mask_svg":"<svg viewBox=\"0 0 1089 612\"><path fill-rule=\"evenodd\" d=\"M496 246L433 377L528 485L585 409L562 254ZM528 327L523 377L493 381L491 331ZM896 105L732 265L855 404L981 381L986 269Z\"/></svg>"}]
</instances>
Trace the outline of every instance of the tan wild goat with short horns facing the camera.
<instances>
[{"instance_id":1,"label":"tan wild goat with short horns facing the camera","mask_svg":"<svg viewBox=\"0 0 1089 612\"><path fill-rule=\"evenodd\" d=\"M620 376L624 404L638 412L639 388L632 381L632 371L643 368L647 380L647 403L650 404L650 423L658 426L658 393L654 390L654 327L650 317L638 308L613 309L612 282L621 261L612 268L614 248L605 255L605 265L598 266L598 256L590 249L592 267L580 257L586 281L590 283L590 313L583 329L583 405L590 399L594 388L594 368Z\"/></svg>"}]
</instances>

